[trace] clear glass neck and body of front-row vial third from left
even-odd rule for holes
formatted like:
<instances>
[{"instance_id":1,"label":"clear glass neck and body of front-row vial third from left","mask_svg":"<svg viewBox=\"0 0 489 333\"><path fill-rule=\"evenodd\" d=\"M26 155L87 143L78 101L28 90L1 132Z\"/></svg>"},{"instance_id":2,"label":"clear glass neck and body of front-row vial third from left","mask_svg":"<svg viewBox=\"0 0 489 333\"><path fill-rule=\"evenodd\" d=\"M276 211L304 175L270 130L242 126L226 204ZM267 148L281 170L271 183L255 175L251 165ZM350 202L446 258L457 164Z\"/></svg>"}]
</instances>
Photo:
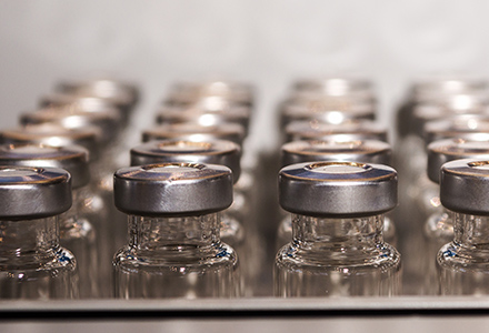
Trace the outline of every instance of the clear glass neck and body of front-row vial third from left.
<instances>
[{"instance_id":1,"label":"clear glass neck and body of front-row vial third from left","mask_svg":"<svg viewBox=\"0 0 489 333\"><path fill-rule=\"evenodd\" d=\"M293 241L276 258L282 297L391 296L400 293L400 255L383 242L383 215L292 215Z\"/></svg>"}]
</instances>

